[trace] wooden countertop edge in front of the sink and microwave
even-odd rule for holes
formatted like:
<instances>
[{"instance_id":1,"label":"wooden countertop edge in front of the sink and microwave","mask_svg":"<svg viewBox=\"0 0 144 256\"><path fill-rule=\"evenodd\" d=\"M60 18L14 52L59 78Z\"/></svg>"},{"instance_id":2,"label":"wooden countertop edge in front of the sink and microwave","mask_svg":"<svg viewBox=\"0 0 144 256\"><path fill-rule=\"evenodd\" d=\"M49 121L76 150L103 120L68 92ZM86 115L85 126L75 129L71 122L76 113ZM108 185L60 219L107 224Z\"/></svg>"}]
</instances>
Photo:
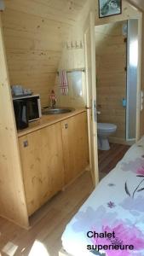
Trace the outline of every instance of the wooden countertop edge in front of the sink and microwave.
<instances>
[{"instance_id":1,"label":"wooden countertop edge in front of the sink and microwave","mask_svg":"<svg viewBox=\"0 0 144 256\"><path fill-rule=\"evenodd\" d=\"M33 131L38 131L44 127L47 127L49 125L54 125L55 123L58 123L65 119L71 118L72 116L75 116L78 113L84 113L84 112L86 112L86 108L76 109L76 110L72 111L72 113L65 113L65 116L63 116L63 117L60 114L60 116L56 115L57 119L48 120L48 121L45 120L45 122L43 122L43 124L38 124L39 120L37 120L37 121L35 121L35 122L37 122L37 125L35 127L29 127L26 130L18 131L18 137L26 136L27 134L32 133ZM43 115L43 116L45 116L45 115ZM43 116L41 119L43 119ZM53 116L55 116L55 115L53 115ZM51 115L51 117L52 117L52 115Z\"/></svg>"}]
</instances>

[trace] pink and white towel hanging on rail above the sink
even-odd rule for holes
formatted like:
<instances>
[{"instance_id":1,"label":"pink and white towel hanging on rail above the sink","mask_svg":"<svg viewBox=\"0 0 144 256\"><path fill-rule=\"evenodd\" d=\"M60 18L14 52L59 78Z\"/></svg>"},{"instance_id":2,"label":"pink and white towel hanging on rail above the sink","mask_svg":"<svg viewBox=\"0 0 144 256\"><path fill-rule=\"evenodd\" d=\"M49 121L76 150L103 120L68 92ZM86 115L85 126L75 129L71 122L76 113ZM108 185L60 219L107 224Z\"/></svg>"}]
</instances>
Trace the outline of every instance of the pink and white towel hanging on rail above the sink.
<instances>
[{"instance_id":1,"label":"pink and white towel hanging on rail above the sink","mask_svg":"<svg viewBox=\"0 0 144 256\"><path fill-rule=\"evenodd\" d=\"M67 81L67 74L65 70L59 71L59 78L60 78L60 93L61 95L68 94L68 81Z\"/></svg>"}]
</instances>

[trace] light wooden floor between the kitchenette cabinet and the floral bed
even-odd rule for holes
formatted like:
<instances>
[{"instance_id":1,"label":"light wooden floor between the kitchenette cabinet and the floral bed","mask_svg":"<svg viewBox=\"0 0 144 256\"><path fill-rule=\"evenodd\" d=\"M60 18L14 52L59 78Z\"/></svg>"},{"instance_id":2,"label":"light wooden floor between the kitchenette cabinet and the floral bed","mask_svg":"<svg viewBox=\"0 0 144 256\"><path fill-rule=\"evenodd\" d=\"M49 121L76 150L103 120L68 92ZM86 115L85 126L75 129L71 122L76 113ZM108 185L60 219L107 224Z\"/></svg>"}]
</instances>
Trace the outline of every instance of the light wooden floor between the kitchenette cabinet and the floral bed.
<instances>
[{"instance_id":1,"label":"light wooden floor between the kitchenette cabinet and the floral bed","mask_svg":"<svg viewBox=\"0 0 144 256\"><path fill-rule=\"evenodd\" d=\"M55 195L47 205L37 212L31 219L32 229L28 231L21 229L4 218L0 218L0 252L2 255L46 256L47 253L43 252L45 247L48 256L57 256L61 247L61 234L66 224L88 198L92 190L93 185L90 174L89 172L84 172L83 176L79 177L64 192ZM36 222L39 216L41 216L41 219ZM3 247L9 242L18 246L16 253L3 253ZM34 242L35 244L32 248ZM36 252L38 252L38 249L40 251L37 254L29 254L31 249L36 249Z\"/></svg>"}]
</instances>

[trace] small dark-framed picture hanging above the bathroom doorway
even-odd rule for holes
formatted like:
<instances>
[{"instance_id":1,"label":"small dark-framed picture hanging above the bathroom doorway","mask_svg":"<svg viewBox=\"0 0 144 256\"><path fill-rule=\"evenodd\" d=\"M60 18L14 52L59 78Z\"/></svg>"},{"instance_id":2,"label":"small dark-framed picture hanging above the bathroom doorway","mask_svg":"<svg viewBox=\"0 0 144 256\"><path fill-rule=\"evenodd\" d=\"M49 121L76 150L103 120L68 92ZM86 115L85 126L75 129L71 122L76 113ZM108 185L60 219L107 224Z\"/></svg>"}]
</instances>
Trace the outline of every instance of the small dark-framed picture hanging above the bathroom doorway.
<instances>
[{"instance_id":1,"label":"small dark-framed picture hanging above the bathroom doorway","mask_svg":"<svg viewBox=\"0 0 144 256\"><path fill-rule=\"evenodd\" d=\"M99 18L105 18L122 13L122 0L98 0Z\"/></svg>"}]
</instances>

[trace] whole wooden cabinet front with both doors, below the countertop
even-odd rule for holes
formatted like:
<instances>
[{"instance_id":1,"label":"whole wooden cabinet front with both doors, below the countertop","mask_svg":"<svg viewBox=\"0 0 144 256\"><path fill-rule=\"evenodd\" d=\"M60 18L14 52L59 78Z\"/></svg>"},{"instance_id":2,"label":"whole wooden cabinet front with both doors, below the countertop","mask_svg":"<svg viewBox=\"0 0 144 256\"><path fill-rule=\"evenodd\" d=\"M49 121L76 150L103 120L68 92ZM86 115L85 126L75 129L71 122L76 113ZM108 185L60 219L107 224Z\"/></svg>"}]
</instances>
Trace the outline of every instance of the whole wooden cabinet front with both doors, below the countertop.
<instances>
[{"instance_id":1,"label":"whole wooden cabinet front with both doors, below the countertop","mask_svg":"<svg viewBox=\"0 0 144 256\"><path fill-rule=\"evenodd\" d=\"M28 215L89 164L86 113L19 137Z\"/></svg>"}]
</instances>

